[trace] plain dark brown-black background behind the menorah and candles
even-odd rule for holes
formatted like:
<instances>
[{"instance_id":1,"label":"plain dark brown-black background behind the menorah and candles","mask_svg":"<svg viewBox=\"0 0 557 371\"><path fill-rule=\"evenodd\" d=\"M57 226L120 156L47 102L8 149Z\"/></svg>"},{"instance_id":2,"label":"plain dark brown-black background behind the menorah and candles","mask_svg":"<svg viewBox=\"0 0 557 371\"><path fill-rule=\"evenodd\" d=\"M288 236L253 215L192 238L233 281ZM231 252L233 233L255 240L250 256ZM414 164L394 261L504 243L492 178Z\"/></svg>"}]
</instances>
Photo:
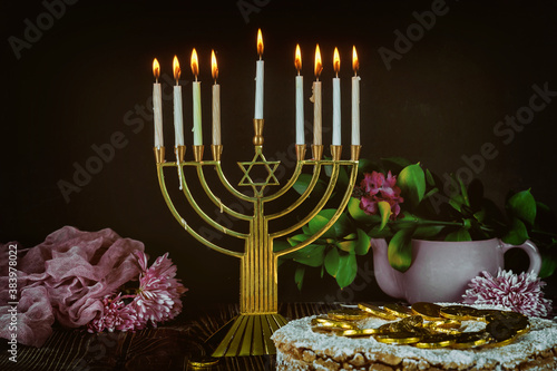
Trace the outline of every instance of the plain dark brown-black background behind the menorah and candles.
<instances>
[{"instance_id":1,"label":"plain dark brown-black background behind the menorah and candles","mask_svg":"<svg viewBox=\"0 0 557 371\"><path fill-rule=\"evenodd\" d=\"M246 3L252 8L245 8ZM548 84L549 90L557 90L557 2L448 0L447 14L437 17L434 26L388 69L378 50L394 50L393 32L405 33L417 22L412 13L431 10L431 4L80 0L66 4L63 14L49 25L41 16L47 8L40 1L2 1L0 241L33 246L63 225L85 231L110 227L121 236L143 241L152 256L169 252L178 276L190 289L188 301L235 302L238 262L199 245L175 222L160 196L152 150L152 62L158 58L162 72L172 76L172 58L178 56L188 128L189 56L197 48L204 141L208 145L209 56L211 49L216 50L223 163L227 176L237 183L241 172L235 162L253 156L253 78L260 27L265 42L267 157L280 158L295 140L296 42L302 48L306 98L314 79L313 52L320 43L325 129L331 126L332 53L335 46L340 49L348 156L350 58L355 45L362 79L362 157L403 156L443 174L459 170L466 166L462 156L477 155L483 144L491 143L498 155L486 160L477 174L488 196L502 204L509 189L531 187L538 201L557 209L557 101L536 113L508 144L494 133L506 115L514 116L528 105L534 85ZM9 38L25 40L26 19L37 25L38 18L45 22L42 35L20 50L18 59ZM167 148L174 144L172 109L172 100L165 101ZM312 121L307 100L305 118ZM76 166L85 167L96 156L94 146L110 143L118 131L125 137L124 148L115 149L102 169L65 199L60 180L75 183ZM185 133L186 145L190 145L192 137L187 129ZM323 138L329 145L331 131ZM306 140L310 143L310 134ZM282 173L290 170L286 166ZM282 182L285 179L283 175ZM169 177L167 183L176 188L173 180ZM208 213L214 215L214 207ZM195 215L187 215L192 225L203 225L195 222ZM223 244L236 248L234 242L223 240ZM360 260L362 270L365 264L371 264L371 256ZM302 293L295 289L292 266L281 271L280 282L281 301L350 299L332 280L319 281L317 272L310 274ZM353 292L360 300L383 297L373 282Z\"/></svg>"}]
</instances>

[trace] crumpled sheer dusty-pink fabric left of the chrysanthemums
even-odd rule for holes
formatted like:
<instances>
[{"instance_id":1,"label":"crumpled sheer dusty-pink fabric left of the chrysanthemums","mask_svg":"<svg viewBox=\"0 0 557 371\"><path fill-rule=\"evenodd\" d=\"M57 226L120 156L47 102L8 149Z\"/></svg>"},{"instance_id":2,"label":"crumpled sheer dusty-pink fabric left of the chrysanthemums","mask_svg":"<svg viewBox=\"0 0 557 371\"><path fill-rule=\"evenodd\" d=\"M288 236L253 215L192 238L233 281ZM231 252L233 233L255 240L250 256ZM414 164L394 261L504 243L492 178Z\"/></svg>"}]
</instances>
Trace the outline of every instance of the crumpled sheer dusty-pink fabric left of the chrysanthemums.
<instances>
[{"instance_id":1,"label":"crumpled sheer dusty-pink fabric left of the chrysanthemums","mask_svg":"<svg viewBox=\"0 0 557 371\"><path fill-rule=\"evenodd\" d=\"M9 314L8 246L0 246L0 325ZM18 248L21 246L18 245ZM18 342L40 346L53 320L68 328L87 324L102 312L102 297L139 276L134 251L144 244L121 238L114 231L81 232L65 226L50 234L43 243L18 254L19 324ZM49 304L48 304L49 303ZM49 314L50 312L50 314ZM29 325L28 325L29 324ZM20 330L21 329L21 330ZM0 332L7 338L9 333Z\"/></svg>"}]
</instances>

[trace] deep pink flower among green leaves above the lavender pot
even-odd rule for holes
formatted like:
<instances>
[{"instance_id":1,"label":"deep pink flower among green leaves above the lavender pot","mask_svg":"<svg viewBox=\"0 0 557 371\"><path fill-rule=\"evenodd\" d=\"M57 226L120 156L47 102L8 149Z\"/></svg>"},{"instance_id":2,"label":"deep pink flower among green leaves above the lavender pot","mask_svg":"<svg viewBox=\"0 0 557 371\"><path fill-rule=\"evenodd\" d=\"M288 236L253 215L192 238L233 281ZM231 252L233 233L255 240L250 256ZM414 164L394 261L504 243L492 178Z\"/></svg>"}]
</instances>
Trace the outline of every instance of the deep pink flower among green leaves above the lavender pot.
<instances>
[{"instance_id":1,"label":"deep pink flower among green leaves above the lavender pot","mask_svg":"<svg viewBox=\"0 0 557 371\"><path fill-rule=\"evenodd\" d=\"M360 189L363 192L360 199L360 208L365 214L378 214L378 203L383 201L391 206L391 219L397 218L400 213L400 203L404 202L404 198L400 196L397 177L391 172L387 174L387 178L382 173L365 173L364 178L360 183Z\"/></svg>"}]
</instances>

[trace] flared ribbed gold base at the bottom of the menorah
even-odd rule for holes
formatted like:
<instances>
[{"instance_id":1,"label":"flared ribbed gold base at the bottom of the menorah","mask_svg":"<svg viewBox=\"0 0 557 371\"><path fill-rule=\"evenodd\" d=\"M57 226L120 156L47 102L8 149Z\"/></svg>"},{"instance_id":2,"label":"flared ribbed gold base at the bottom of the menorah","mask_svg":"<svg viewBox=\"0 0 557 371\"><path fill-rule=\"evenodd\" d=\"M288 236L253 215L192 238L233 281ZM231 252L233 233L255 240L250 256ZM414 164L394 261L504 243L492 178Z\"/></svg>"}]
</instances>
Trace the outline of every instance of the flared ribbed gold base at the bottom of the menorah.
<instances>
[{"instance_id":1,"label":"flared ribbed gold base at the bottom of the menorah","mask_svg":"<svg viewBox=\"0 0 557 371\"><path fill-rule=\"evenodd\" d=\"M287 321L278 313L265 313L240 314L231 322L213 357L276 354L271 335Z\"/></svg>"}]
</instances>

